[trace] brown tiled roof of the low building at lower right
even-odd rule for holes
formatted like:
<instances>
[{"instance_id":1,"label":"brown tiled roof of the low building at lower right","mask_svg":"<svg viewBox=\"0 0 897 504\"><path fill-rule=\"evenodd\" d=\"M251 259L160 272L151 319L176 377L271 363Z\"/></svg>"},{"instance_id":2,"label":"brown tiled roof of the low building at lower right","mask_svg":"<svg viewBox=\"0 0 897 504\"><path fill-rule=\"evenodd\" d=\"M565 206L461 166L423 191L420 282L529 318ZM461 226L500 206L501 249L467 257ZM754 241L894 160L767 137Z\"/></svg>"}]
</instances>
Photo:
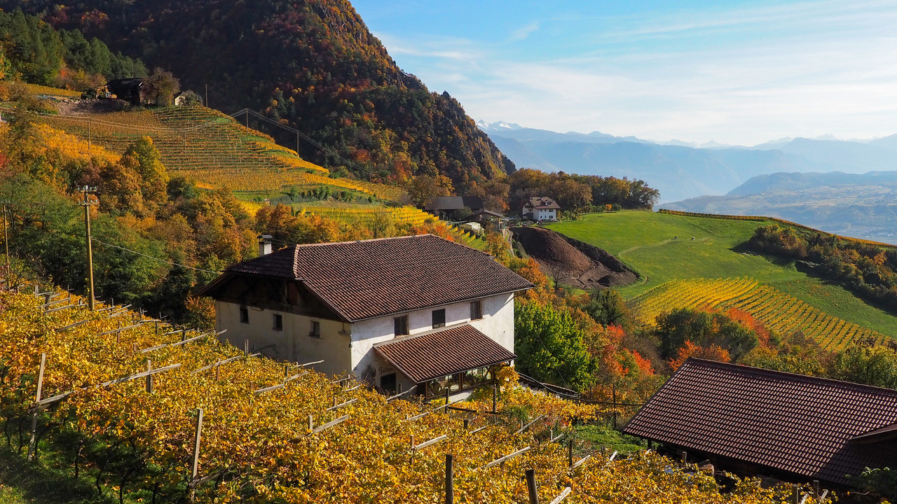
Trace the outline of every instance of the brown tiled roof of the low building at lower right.
<instances>
[{"instance_id":1,"label":"brown tiled roof of the low building at lower right","mask_svg":"<svg viewBox=\"0 0 897 504\"><path fill-rule=\"evenodd\" d=\"M690 359L623 432L846 484L893 463L893 447L851 439L894 422L897 390Z\"/></svg>"}]
</instances>

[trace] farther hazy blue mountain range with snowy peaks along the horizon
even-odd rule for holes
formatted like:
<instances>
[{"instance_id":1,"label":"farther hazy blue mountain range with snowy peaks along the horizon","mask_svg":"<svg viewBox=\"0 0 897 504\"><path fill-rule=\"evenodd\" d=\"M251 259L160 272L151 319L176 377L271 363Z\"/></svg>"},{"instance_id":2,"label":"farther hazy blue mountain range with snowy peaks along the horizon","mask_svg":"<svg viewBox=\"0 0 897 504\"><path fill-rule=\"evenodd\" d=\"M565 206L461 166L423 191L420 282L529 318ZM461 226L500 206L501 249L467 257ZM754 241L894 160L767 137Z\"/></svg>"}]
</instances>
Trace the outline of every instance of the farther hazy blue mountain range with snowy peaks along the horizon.
<instances>
[{"instance_id":1,"label":"farther hazy blue mountain range with snowy peaks along the horizon","mask_svg":"<svg viewBox=\"0 0 897 504\"><path fill-rule=\"evenodd\" d=\"M897 135L871 141L787 138L745 147L555 133L506 122L477 126L518 168L641 178L660 191L661 202L725 195L751 178L779 172L897 169Z\"/></svg>"}]
</instances>

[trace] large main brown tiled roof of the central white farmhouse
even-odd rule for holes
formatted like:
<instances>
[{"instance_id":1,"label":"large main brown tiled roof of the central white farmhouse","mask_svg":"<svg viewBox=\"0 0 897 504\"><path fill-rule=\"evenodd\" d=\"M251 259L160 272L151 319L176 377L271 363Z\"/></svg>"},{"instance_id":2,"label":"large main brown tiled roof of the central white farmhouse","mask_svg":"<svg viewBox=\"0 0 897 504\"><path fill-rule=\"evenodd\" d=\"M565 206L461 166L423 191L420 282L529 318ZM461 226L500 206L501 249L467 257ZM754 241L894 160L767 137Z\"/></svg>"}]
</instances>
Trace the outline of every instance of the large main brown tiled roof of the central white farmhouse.
<instances>
[{"instance_id":1,"label":"large main brown tiled roof of the central white farmhouse","mask_svg":"<svg viewBox=\"0 0 897 504\"><path fill-rule=\"evenodd\" d=\"M433 235L293 245L225 274L235 273L296 279L350 322L533 287L492 256Z\"/></svg>"}]
</instances>

